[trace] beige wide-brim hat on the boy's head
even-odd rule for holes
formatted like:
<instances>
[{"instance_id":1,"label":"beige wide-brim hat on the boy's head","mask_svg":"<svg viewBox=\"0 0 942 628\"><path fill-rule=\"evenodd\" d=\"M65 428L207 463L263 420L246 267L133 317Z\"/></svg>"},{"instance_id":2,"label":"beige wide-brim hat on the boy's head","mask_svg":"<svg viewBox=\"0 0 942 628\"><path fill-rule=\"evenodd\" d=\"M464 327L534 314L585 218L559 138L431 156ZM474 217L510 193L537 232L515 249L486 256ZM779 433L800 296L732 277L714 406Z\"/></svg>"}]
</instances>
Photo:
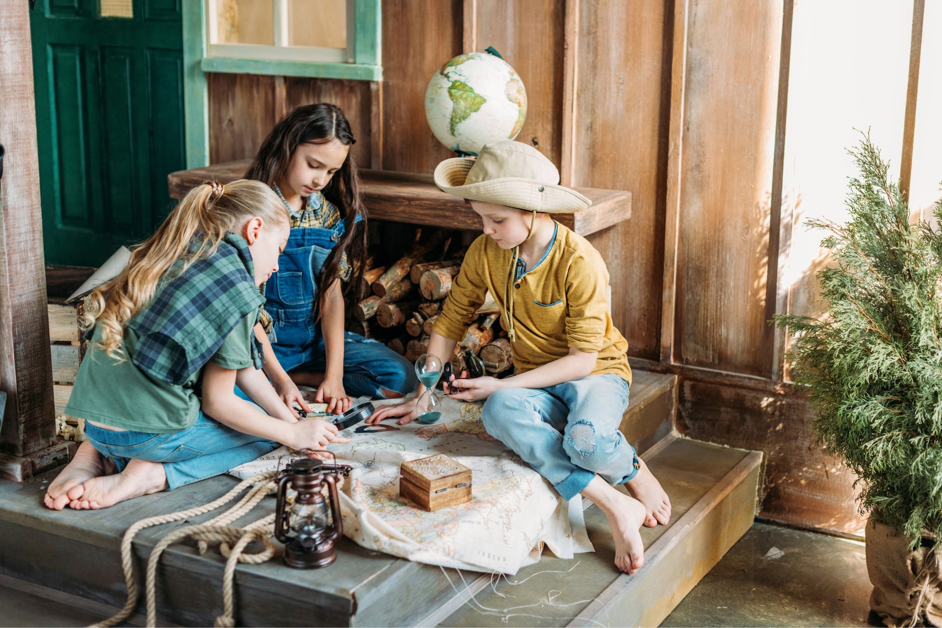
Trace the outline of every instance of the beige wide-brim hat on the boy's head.
<instances>
[{"instance_id":1,"label":"beige wide-brim hat on the boy's head","mask_svg":"<svg viewBox=\"0 0 942 628\"><path fill-rule=\"evenodd\" d=\"M477 157L454 157L438 165L435 185L471 201L494 202L529 212L569 214L592 201L560 184L560 171L529 144L485 144Z\"/></svg>"}]
</instances>

